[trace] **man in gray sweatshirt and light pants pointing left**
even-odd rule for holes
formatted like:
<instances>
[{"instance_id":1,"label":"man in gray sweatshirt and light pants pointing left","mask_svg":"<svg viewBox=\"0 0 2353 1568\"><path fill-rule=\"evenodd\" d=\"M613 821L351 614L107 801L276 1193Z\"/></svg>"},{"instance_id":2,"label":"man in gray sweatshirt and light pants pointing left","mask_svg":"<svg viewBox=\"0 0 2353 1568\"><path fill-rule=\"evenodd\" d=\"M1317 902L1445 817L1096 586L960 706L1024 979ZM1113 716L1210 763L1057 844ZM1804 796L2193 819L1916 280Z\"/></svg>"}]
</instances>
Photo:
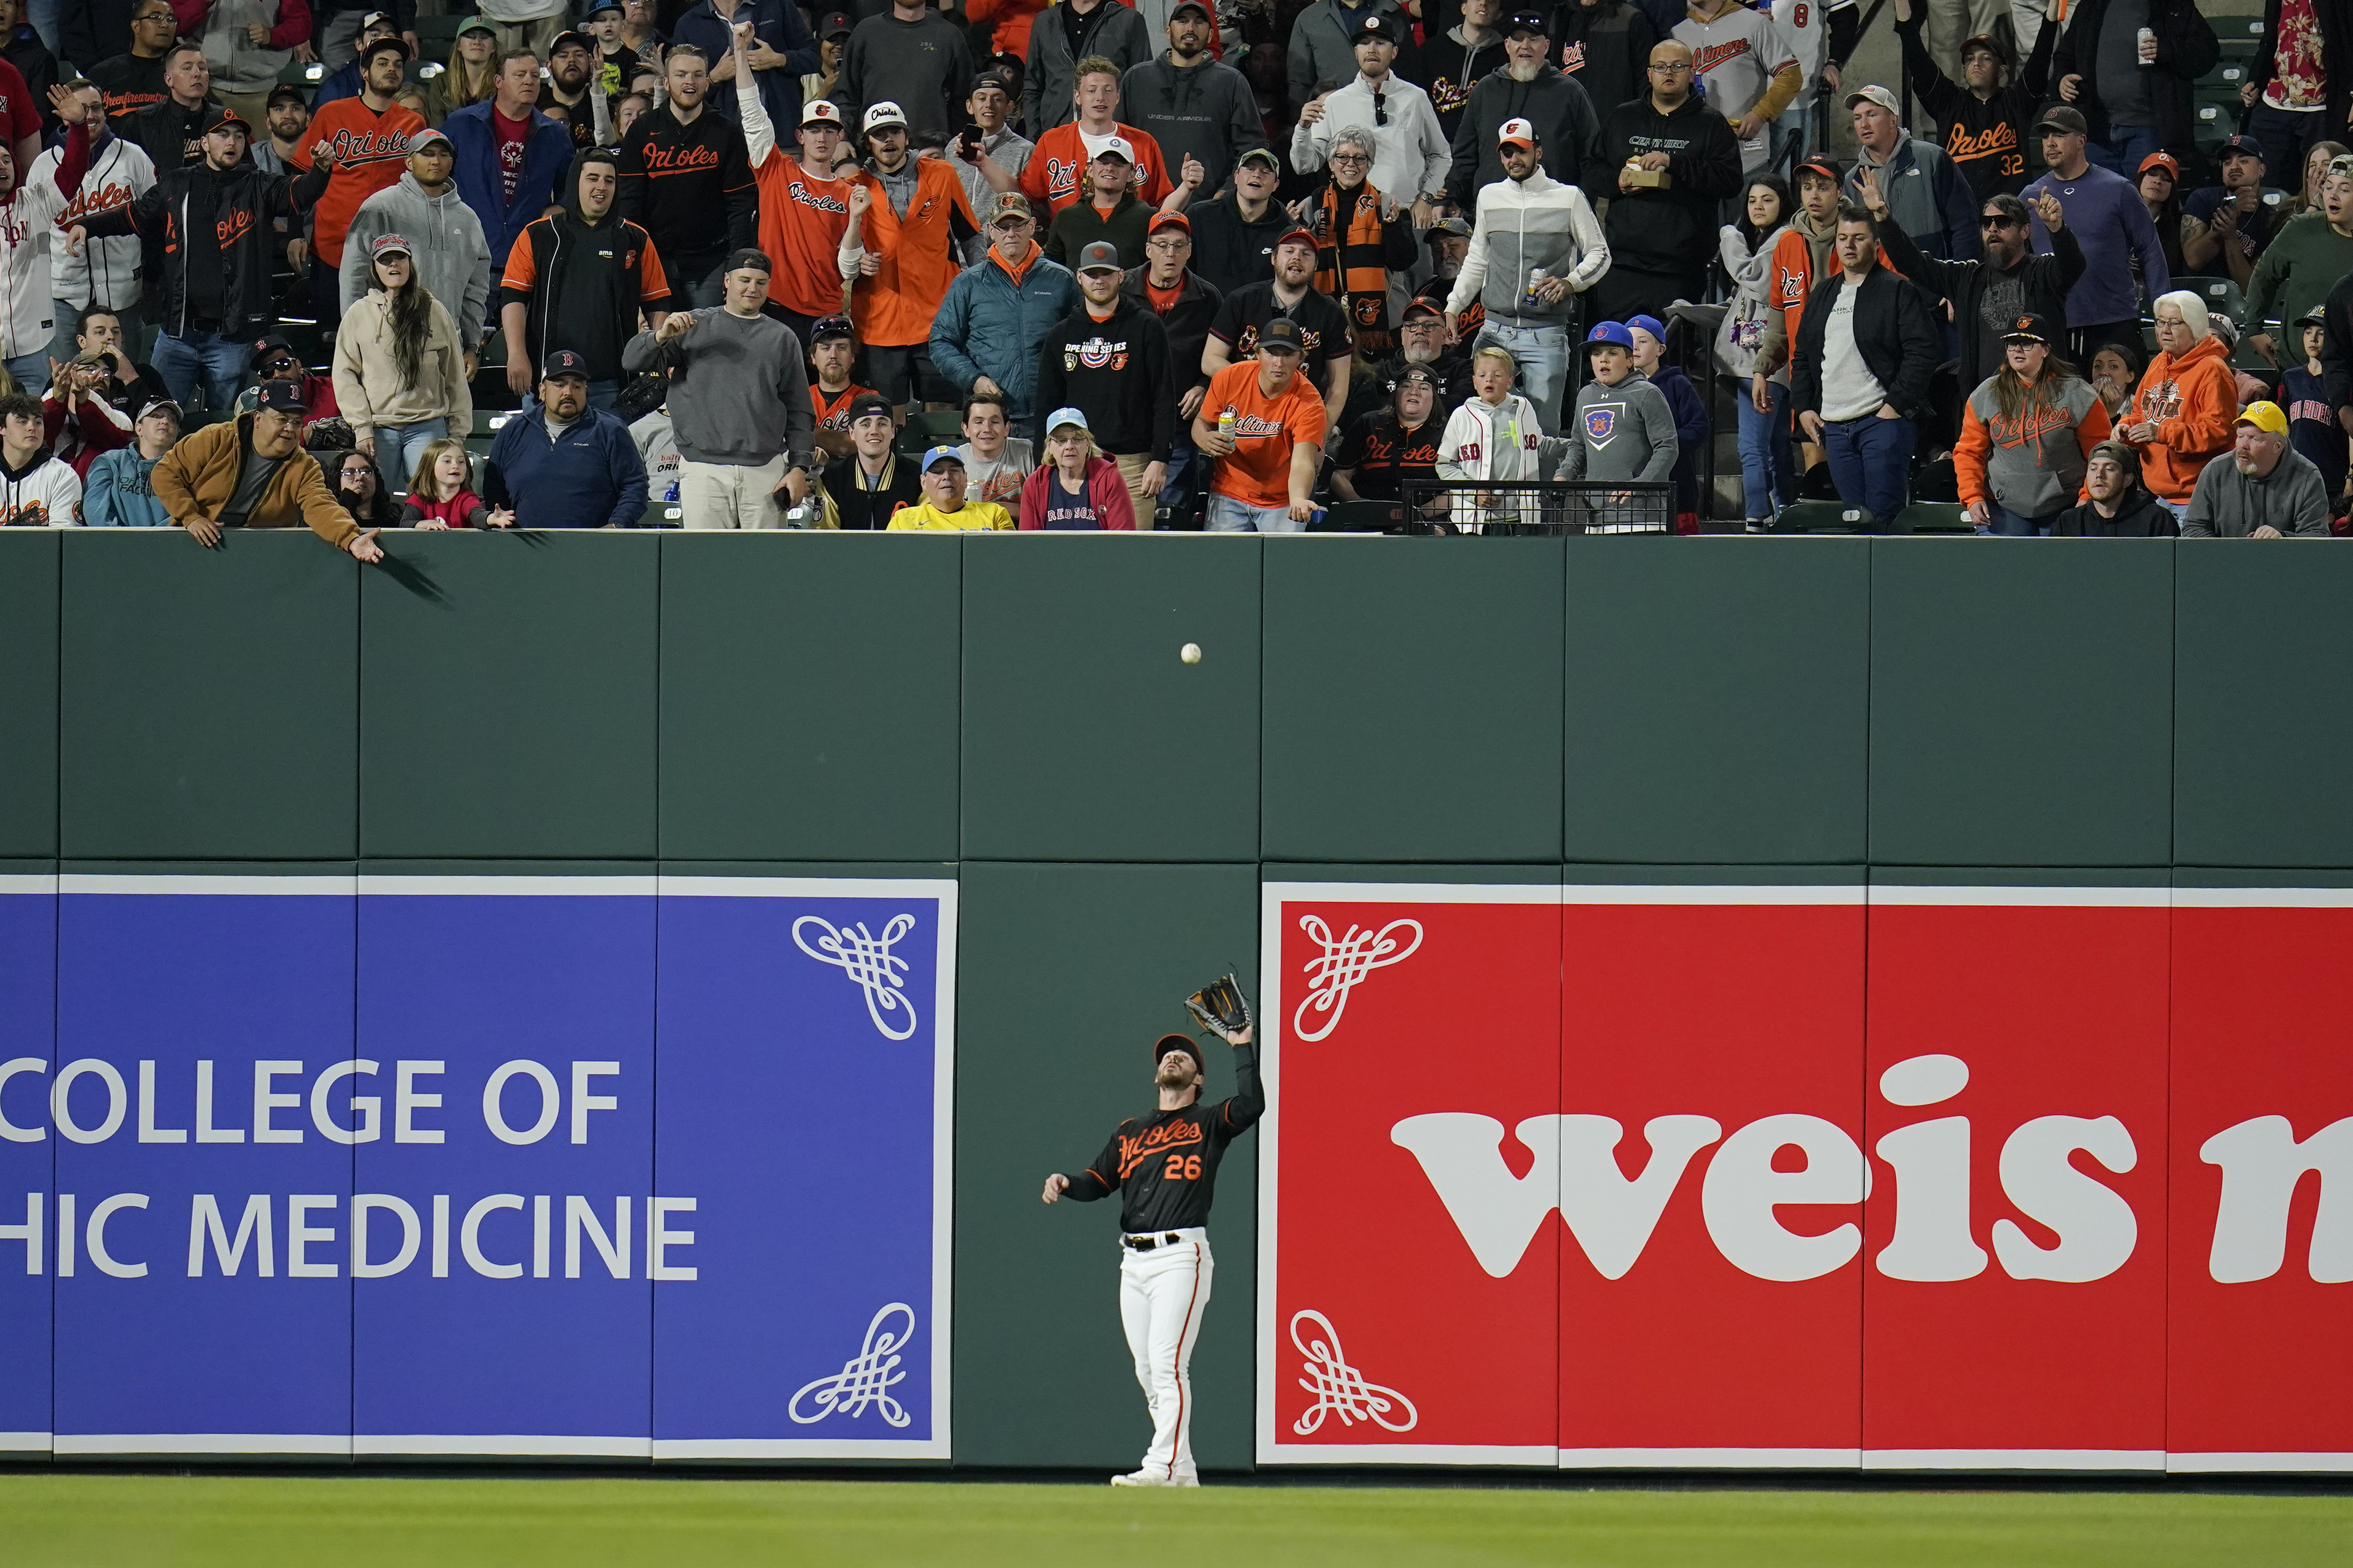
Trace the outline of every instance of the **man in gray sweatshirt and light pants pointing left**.
<instances>
[{"instance_id":1,"label":"man in gray sweatshirt and light pants pointing left","mask_svg":"<svg viewBox=\"0 0 2353 1568\"><path fill-rule=\"evenodd\" d=\"M673 310L621 350L631 371L673 371L678 505L689 529L774 529L779 505L809 491L809 362L793 329L760 313L767 275L762 252L739 249L720 277L720 310Z\"/></svg>"}]
</instances>

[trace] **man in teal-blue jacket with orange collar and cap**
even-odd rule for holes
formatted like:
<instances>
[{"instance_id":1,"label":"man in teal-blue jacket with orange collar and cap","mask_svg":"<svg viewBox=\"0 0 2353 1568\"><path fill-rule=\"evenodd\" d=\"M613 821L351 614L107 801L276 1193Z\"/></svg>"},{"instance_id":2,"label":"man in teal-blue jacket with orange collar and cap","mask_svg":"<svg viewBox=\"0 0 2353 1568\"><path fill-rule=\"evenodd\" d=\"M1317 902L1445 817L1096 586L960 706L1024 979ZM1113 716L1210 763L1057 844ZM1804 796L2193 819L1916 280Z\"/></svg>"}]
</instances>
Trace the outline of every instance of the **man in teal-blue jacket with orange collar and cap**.
<instances>
[{"instance_id":1,"label":"man in teal-blue jacket with orange collar and cap","mask_svg":"<svg viewBox=\"0 0 2353 1568\"><path fill-rule=\"evenodd\" d=\"M955 275L932 317L932 367L965 397L1005 395L1019 428L1038 414L1038 346L1073 310L1078 280L1045 259L1028 197L1007 190L988 219L988 254Z\"/></svg>"}]
</instances>

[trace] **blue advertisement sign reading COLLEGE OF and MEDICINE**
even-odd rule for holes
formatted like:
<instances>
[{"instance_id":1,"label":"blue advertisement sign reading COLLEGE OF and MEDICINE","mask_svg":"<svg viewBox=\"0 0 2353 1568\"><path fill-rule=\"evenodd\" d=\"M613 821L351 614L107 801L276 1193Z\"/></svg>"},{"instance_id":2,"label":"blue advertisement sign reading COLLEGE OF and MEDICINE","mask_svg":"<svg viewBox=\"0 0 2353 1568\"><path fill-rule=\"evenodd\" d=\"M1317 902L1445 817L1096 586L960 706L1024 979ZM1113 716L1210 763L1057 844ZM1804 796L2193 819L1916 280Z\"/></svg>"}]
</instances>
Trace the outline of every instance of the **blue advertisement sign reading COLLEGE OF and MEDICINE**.
<instances>
[{"instance_id":1,"label":"blue advertisement sign reading COLLEGE OF and MEDICINE","mask_svg":"<svg viewBox=\"0 0 2353 1568\"><path fill-rule=\"evenodd\" d=\"M951 879L56 886L0 1448L948 1458Z\"/></svg>"}]
</instances>

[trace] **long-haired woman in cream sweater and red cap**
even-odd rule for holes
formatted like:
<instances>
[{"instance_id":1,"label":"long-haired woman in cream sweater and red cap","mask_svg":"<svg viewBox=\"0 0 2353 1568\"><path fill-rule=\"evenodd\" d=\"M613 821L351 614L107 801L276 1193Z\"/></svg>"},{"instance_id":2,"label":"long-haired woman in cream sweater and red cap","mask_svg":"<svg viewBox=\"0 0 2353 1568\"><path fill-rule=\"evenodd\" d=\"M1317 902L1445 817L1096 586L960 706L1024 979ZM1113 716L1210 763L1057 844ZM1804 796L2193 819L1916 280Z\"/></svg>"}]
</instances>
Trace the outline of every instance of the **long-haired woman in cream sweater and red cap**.
<instances>
[{"instance_id":1,"label":"long-haired woman in cream sweater and red cap","mask_svg":"<svg viewBox=\"0 0 2353 1568\"><path fill-rule=\"evenodd\" d=\"M473 433L456 322L416 280L400 235L376 235L367 294L334 334L334 402L360 449L391 475L414 473L431 442Z\"/></svg>"}]
</instances>

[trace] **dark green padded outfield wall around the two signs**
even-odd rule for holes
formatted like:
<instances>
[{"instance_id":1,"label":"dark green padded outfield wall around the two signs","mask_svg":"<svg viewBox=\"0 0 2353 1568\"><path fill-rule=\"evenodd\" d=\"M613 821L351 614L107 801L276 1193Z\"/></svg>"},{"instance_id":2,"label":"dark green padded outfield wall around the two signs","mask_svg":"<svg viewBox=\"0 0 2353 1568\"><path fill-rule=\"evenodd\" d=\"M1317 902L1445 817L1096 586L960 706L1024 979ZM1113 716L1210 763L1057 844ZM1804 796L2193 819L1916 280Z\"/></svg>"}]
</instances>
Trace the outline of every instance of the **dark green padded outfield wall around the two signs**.
<instances>
[{"instance_id":1,"label":"dark green padded outfield wall around the two signs","mask_svg":"<svg viewBox=\"0 0 2353 1568\"><path fill-rule=\"evenodd\" d=\"M1038 1185L1146 1105L1179 994L1257 985L1261 877L2353 870L2334 545L386 541L0 534L0 863L948 867L958 1465L1134 1462L1111 1215ZM1254 1178L1245 1140L1214 1469L1252 1458Z\"/></svg>"}]
</instances>

